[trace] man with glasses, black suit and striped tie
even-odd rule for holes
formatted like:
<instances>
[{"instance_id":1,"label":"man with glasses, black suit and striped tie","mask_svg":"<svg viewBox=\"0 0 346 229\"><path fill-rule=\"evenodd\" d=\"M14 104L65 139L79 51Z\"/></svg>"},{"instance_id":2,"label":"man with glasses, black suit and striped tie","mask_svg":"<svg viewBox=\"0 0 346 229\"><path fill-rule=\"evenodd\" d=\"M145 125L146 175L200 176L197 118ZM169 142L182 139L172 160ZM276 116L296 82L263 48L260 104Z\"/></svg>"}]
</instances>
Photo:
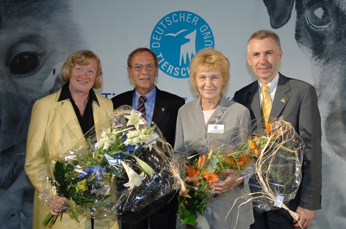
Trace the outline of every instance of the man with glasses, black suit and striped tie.
<instances>
[{"instance_id":1,"label":"man with glasses, black suit and striped tie","mask_svg":"<svg viewBox=\"0 0 346 229\"><path fill-rule=\"evenodd\" d=\"M157 55L148 48L138 48L127 59L127 71L135 82L135 89L126 91L112 98L114 109L121 105L140 108L148 123L154 122L161 130L167 142L174 147L175 125L178 110L185 104L179 96L158 89L154 83L158 75ZM141 105L144 103L144 106ZM173 193L175 194L175 193ZM171 198L165 196L162 198ZM151 229L175 229L178 201L176 196L162 207L164 201L158 200L139 212L123 215L122 229L148 229L149 216ZM154 213L152 213L154 212Z\"/></svg>"}]
</instances>

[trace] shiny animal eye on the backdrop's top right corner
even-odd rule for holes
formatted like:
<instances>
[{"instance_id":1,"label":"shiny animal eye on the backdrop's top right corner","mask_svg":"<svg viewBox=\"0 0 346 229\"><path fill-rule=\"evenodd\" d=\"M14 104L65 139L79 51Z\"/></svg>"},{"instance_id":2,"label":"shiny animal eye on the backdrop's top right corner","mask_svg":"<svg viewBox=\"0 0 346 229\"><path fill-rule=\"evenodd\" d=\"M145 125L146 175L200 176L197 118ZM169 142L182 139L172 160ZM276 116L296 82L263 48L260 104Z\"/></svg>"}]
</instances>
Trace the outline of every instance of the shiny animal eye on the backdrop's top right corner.
<instances>
[{"instance_id":1,"label":"shiny animal eye on the backdrop's top right corner","mask_svg":"<svg viewBox=\"0 0 346 229\"><path fill-rule=\"evenodd\" d=\"M322 2L312 4L307 10L306 20L316 29L327 28L330 25L329 7Z\"/></svg>"}]
</instances>

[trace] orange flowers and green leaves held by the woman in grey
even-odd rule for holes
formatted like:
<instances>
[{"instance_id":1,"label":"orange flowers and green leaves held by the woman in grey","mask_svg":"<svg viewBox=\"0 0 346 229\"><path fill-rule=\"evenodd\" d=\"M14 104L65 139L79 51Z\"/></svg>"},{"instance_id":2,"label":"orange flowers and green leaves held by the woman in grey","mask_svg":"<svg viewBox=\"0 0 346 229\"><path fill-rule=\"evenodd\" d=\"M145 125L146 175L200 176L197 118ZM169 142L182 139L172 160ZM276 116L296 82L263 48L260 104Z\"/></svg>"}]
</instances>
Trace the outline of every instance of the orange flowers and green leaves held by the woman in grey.
<instances>
[{"instance_id":1,"label":"orange flowers and green leaves held by the woman in grey","mask_svg":"<svg viewBox=\"0 0 346 229\"><path fill-rule=\"evenodd\" d=\"M180 203L178 217L181 224L195 225L197 211L203 214L205 204L220 195L215 193L213 184L225 180L234 173L238 175L237 180L253 173L256 150L252 150L249 143L243 143L234 152L225 151L221 145L215 151L213 149L209 152L196 151L197 148L201 148L193 145L199 143L200 140L195 141L188 147L186 154L180 155L182 158L187 156L186 162L183 163L184 167L180 167L180 176L185 181L186 187L185 192L178 196ZM184 160L180 156L177 156L179 164Z\"/></svg>"}]
</instances>

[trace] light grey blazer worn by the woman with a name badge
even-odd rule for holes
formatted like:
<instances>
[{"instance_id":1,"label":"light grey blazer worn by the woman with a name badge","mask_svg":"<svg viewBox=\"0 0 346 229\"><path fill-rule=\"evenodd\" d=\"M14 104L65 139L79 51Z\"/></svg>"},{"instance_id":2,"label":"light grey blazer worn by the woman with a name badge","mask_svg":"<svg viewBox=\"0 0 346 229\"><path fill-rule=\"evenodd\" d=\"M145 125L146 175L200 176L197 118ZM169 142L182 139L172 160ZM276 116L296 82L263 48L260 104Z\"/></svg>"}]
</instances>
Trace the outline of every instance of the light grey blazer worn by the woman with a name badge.
<instances>
[{"instance_id":1,"label":"light grey blazer worn by the woman with a name badge","mask_svg":"<svg viewBox=\"0 0 346 229\"><path fill-rule=\"evenodd\" d=\"M184 152L186 147L200 137L206 138L207 141L218 139L219 134L207 133L208 124L216 123L215 116L220 117L218 123L224 124L225 130L250 121L250 112L246 107L222 96L219 105L216 107L208 123L205 124L201 98L199 97L179 109L176 122L174 152ZM244 182L243 187L233 188L227 194L219 196L215 201L206 204L203 215L197 214L197 223L194 227L198 229L233 228L237 220L238 206L244 200L238 200L237 205L233 207L233 210L227 218L226 215L231 210L235 199L245 193L250 193L248 179ZM253 222L252 203L242 205L239 208L237 228L250 226ZM187 227L190 228L191 226Z\"/></svg>"}]
</instances>

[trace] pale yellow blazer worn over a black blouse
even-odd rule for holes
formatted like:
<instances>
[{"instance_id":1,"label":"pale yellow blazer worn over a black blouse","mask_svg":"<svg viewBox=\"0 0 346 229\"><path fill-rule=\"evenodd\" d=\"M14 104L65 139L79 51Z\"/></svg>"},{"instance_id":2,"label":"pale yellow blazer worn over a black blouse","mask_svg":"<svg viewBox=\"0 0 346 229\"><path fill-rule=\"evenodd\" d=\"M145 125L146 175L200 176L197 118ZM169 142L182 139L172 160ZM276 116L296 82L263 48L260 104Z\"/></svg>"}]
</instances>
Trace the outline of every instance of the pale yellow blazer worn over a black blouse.
<instances>
[{"instance_id":1,"label":"pale yellow blazer worn over a black blouse","mask_svg":"<svg viewBox=\"0 0 346 229\"><path fill-rule=\"evenodd\" d=\"M35 186L33 228L44 229L42 220L49 212L49 207L38 200L38 194L42 193L47 185L46 165L57 160L59 155L64 155L68 149L79 141L85 141L80 128L75 110L69 99L59 101L61 89L35 102L29 125L25 172ZM113 111L112 101L96 94L99 105L92 104L95 124ZM56 228L91 229L91 219L79 214L79 224L64 212L60 221L58 217ZM95 220L95 229L118 229L116 215L112 220Z\"/></svg>"}]
</instances>

